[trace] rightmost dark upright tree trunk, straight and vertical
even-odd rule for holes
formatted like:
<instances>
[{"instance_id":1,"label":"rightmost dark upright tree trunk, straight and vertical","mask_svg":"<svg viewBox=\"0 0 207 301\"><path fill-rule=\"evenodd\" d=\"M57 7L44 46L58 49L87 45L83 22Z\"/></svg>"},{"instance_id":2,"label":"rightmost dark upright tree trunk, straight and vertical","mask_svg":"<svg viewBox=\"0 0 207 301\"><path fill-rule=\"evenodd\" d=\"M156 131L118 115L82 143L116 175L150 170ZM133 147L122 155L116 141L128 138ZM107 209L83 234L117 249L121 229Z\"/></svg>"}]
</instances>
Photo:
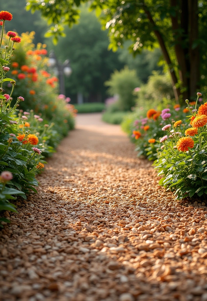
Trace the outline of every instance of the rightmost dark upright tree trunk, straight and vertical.
<instances>
[{"instance_id":1,"label":"rightmost dark upright tree trunk, straight and vertical","mask_svg":"<svg viewBox=\"0 0 207 301\"><path fill-rule=\"evenodd\" d=\"M188 0L189 5L189 27L190 27L190 97L196 96L199 88L199 46L198 39L198 0Z\"/></svg>"}]
</instances>

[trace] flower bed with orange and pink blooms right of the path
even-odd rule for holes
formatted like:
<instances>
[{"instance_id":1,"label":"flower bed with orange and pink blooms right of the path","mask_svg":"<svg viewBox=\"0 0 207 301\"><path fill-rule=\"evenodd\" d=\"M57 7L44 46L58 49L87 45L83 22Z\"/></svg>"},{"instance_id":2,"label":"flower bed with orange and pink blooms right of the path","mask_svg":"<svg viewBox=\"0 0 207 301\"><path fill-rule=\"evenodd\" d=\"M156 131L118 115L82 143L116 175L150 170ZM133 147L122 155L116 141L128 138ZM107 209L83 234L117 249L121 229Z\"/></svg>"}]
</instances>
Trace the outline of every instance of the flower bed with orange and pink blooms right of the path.
<instances>
[{"instance_id":1,"label":"flower bed with orange and pink blooms right of the path","mask_svg":"<svg viewBox=\"0 0 207 301\"><path fill-rule=\"evenodd\" d=\"M185 108L150 109L145 118L133 121L131 136L139 155L155 160L162 175L159 184L173 190L175 199L206 199L207 102L201 104L201 96L198 92L196 101L186 100Z\"/></svg>"}]
</instances>

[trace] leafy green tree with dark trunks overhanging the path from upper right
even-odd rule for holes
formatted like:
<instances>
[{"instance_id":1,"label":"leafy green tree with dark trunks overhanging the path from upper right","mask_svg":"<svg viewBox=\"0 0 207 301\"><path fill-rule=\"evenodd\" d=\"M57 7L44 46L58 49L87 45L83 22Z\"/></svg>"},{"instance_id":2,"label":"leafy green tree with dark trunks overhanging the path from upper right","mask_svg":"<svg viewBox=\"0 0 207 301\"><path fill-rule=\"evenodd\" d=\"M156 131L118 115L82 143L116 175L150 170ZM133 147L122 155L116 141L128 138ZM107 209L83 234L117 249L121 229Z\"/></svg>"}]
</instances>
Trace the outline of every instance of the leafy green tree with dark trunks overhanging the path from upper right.
<instances>
[{"instance_id":1,"label":"leafy green tree with dark trunks overhanging the path from upper right","mask_svg":"<svg viewBox=\"0 0 207 301\"><path fill-rule=\"evenodd\" d=\"M27 9L39 10L52 25L47 36L64 35L63 25L78 20L80 2L88 0L28 0ZM203 0L94 0L91 8L109 30L114 51L126 40L129 49L160 47L171 74L175 98L193 97L205 80L207 1ZM202 66L201 63L202 62ZM200 76L201 74L201 76ZM205 89L207 87L205 86Z\"/></svg>"}]
</instances>

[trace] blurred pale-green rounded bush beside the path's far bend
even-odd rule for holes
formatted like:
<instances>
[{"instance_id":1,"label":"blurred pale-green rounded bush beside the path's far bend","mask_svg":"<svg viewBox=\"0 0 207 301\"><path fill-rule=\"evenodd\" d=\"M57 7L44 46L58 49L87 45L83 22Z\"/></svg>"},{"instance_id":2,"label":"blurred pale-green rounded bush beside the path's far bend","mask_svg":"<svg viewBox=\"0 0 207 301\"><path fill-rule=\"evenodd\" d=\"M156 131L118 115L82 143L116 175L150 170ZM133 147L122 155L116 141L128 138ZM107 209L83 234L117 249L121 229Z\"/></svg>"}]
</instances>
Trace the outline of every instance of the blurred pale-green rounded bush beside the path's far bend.
<instances>
[{"instance_id":1,"label":"blurred pale-green rounded bush beside the path's far bend","mask_svg":"<svg viewBox=\"0 0 207 301\"><path fill-rule=\"evenodd\" d=\"M121 71L115 70L105 85L109 86L110 95L118 95L119 110L131 110L135 104L133 90L140 85L135 70L129 70L126 66Z\"/></svg>"}]
</instances>

